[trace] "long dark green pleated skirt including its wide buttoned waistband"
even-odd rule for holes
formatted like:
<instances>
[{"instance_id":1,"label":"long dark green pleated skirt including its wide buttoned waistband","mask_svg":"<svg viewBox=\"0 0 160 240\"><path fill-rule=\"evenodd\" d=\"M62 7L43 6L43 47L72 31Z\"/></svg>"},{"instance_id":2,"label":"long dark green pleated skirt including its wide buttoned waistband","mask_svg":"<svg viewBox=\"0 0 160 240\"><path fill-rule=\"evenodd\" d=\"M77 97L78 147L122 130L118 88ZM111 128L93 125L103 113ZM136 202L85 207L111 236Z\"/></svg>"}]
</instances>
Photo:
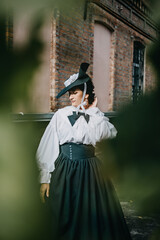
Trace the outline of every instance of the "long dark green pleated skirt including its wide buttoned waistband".
<instances>
[{"instance_id":1,"label":"long dark green pleated skirt including its wide buttoned waistband","mask_svg":"<svg viewBox=\"0 0 160 240\"><path fill-rule=\"evenodd\" d=\"M53 240L131 239L110 180L103 178L94 148L64 144L50 184Z\"/></svg>"}]
</instances>

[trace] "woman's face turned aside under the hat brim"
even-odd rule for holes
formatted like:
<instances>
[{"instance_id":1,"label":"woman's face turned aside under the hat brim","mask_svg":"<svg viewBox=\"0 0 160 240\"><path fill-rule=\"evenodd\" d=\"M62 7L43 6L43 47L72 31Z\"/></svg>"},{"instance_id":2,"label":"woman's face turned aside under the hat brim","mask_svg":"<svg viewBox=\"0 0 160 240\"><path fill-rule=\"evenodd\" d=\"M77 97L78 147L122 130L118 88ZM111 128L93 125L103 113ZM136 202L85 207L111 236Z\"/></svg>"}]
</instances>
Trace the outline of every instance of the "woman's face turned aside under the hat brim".
<instances>
[{"instance_id":1,"label":"woman's face turned aside under the hat brim","mask_svg":"<svg viewBox=\"0 0 160 240\"><path fill-rule=\"evenodd\" d=\"M78 107L81 104L83 97L83 92L80 89L70 90L69 91L69 100L72 103L72 106Z\"/></svg>"}]
</instances>

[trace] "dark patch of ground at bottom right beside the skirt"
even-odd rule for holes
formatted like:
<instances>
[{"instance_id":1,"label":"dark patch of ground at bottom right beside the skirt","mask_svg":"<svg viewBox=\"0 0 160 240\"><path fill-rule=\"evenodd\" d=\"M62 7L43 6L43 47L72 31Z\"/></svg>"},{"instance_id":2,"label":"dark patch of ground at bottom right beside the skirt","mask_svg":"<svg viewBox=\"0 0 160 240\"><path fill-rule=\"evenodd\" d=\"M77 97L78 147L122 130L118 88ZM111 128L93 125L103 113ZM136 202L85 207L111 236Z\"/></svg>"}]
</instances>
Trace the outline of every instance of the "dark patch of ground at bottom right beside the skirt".
<instances>
[{"instance_id":1,"label":"dark patch of ground at bottom right beside the skirt","mask_svg":"<svg viewBox=\"0 0 160 240\"><path fill-rule=\"evenodd\" d=\"M121 202L132 240L150 240L155 230L160 228L160 216L139 216L134 202ZM155 238L160 240L160 235Z\"/></svg>"}]
</instances>

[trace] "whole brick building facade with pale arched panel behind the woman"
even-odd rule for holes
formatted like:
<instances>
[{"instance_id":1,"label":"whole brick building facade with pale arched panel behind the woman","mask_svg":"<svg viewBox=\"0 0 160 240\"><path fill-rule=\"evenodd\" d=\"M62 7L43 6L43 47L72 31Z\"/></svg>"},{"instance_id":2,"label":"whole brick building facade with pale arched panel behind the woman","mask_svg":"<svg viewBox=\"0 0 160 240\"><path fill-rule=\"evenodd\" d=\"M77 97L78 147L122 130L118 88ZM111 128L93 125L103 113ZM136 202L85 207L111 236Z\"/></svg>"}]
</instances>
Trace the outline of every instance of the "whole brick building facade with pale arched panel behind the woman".
<instances>
[{"instance_id":1,"label":"whole brick building facade with pale arched panel behind the woman","mask_svg":"<svg viewBox=\"0 0 160 240\"><path fill-rule=\"evenodd\" d=\"M45 70L31 86L32 112L47 113L68 105L67 94L58 100L55 96L83 61L90 63L88 74L104 112L117 111L153 89L155 80L146 51L158 30L147 2L86 0L69 16L55 10L45 25Z\"/></svg>"}]
</instances>

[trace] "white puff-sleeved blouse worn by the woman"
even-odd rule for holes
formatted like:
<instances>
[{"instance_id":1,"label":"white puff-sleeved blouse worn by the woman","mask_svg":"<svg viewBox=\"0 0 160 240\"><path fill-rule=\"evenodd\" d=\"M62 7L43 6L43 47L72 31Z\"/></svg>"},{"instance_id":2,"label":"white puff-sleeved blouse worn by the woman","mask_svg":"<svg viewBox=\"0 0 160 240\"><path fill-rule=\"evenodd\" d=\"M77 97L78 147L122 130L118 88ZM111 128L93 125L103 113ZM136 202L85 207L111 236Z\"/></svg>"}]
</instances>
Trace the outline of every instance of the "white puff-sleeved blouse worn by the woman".
<instances>
[{"instance_id":1,"label":"white puff-sleeved blouse worn by the woman","mask_svg":"<svg viewBox=\"0 0 160 240\"><path fill-rule=\"evenodd\" d=\"M48 124L37 149L36 157L40 169L40 182L50 183L54 162L59 155L59 145L67 142L96 145L102 139L113 138L117 130L97 107L86 109L89 122L80 116L72 126L68 116L73 106L59 109Z\"/></svg>"}]
</instances>

